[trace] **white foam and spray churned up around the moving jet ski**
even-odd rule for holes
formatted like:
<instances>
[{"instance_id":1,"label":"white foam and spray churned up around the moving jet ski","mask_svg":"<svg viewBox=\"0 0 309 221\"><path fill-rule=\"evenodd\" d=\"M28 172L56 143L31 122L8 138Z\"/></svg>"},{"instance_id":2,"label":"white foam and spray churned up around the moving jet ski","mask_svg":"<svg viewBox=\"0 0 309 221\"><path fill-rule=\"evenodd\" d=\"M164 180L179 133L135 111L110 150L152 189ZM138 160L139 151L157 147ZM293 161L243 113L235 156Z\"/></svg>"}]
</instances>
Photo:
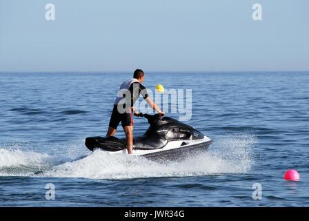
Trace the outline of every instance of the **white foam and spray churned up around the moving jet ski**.
<instances>
[{"instance_id":1,"label":"white foam and spray churned up around the moving jet ski","mask_svg":"<svg viewBox=\"0 0 309 221\"><path fill-rule=\"evenodd\" d=\"M181 162L159 163L147 160L144 157L110 155L103 151L94 151L94 153L90 153L79 160L60 165L53 164L54 166L50 165L53 157L46 154L24 153L22 151L8 152L1 149L0 171L3 171L3 166L48 165L42 173L39 173L40 176L86 177L90 179L247 173L253 162L250 152L251 146L255 142L257 142L257 139L250 134L217 137L215 143L210 146L210 151L192 155ZM9 175L8 173L5 174Z\"/></svg>"}]
</instances>

